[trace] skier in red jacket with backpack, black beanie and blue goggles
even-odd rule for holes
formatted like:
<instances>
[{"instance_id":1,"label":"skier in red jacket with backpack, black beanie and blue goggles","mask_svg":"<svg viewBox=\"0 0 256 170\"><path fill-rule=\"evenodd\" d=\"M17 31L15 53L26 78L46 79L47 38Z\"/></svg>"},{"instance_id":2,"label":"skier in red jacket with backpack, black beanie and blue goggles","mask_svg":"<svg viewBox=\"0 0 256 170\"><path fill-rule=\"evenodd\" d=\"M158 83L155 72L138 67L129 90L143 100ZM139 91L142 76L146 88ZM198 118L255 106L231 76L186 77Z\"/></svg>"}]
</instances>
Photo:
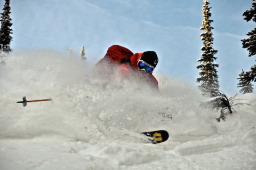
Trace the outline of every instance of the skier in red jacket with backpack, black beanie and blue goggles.
<instances>
[{"instance_id":1,"label":"skier in red jacket with backpack, black beanie and blue goggles","mask_svg":"<svg viewBox=\"0 0 256 170\"><path fill-rule=\"evenodd\" d=\"M159 91L157 79L152 74L157 63L158 57L154 51L133 54L125 47L113 45L95 65L93 72L105 79L106 84L116 83L119 86L124 80L129 80Z\"/></svg>"}]
</instances>

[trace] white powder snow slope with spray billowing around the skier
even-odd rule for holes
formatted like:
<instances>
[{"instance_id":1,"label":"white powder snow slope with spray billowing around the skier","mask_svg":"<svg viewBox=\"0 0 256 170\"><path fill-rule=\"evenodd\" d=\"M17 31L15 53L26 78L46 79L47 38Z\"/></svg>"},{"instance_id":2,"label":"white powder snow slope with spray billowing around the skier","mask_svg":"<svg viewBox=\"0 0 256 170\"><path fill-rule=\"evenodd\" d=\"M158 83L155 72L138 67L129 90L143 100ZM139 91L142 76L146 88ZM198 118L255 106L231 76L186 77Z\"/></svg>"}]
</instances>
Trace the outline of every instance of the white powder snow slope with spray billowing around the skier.
<instances>
[{"instance_id":1,"label":"white powder snow slope with spray billowing around the skier","mask_svg":"<svg viewBox=\"0 0 256 170\"><path fill-rule=\"evenodd\" d=\"M79 56L30 51L2 60L0 169L256 168L255 93L237 96L252 106L218 123L180 78L157 73L157 94L106 86ZM23 96L53 101L22 107ZM137 133L155 129L169 140L150 144Z\"/></svg>"}]
</instances>

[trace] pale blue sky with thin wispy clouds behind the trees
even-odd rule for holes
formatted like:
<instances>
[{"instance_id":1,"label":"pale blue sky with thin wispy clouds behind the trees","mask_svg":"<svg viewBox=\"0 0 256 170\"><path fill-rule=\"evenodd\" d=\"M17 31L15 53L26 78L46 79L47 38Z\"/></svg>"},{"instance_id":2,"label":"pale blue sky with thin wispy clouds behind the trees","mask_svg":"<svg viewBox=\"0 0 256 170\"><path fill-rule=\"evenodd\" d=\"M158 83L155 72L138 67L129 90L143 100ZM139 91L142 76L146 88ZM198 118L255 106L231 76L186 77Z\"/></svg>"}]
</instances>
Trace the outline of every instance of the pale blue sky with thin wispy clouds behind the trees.
<instances>
[{"instance_id":1,"label":"pale blue sky with thin wispy clouds behind the trees","mask_svg":"<svg viewBox=\"0 0 256 170\"><path fill-rule=\"evenodd\" d=\"M156 73L183 77L197 86L203 4L198 0L11 0L11 47L14 53L35 48L68 53L72 48L78 54L83 44L92 63L113 44L134 53L156 51ZM240 90L238 74L255 64L255 56L249 58L241 42L255 27L242 16L252 0L214 0L210 6L220 90L235 94Z\"/></svg>"}]
</instances>

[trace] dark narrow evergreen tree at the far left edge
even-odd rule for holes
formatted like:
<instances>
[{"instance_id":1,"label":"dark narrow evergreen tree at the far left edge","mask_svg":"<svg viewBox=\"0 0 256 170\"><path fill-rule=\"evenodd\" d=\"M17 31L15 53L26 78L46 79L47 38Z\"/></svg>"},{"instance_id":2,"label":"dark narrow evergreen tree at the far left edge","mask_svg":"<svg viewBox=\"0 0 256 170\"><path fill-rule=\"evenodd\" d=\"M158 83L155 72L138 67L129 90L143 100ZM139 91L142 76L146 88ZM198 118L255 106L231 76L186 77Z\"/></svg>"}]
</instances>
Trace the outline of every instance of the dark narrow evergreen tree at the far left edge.
<instances>
[{"instance_id":1,"label":"dark narrow evergreen tree at the far left edge","mask_svg":"<svg viewBox=\"0 0 256 170\"><path fill-rule=\"evenodd\" d=\"M3 13L1 13L1 30L0 30L0 50L4 52L12 52L10 47L12 41L12 19L10 18L10 0L5 0Z\"/></svg>"}]
</instances>

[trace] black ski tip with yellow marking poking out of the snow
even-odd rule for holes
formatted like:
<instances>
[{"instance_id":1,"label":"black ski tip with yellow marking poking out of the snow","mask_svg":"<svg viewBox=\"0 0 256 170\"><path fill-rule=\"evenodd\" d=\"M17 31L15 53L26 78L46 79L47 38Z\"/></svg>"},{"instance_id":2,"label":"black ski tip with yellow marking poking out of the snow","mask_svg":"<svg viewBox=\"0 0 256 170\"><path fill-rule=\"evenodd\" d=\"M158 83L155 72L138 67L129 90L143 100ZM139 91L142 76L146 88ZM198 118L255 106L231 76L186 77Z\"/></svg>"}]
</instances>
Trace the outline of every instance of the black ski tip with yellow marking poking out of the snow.
<instances>
[{"instance_id":1,"label":"black ski tip with yellow marking poking out of the snow","mask_svg":"<svg viewBox=\"0 0 256 170\"><path fill-rule=\"evenodd\" d=\"M164 130L141 132L140 134L147 136L148 140L154 144L165 142L169 138L169 133Z\"/></svg>"}]
</instances>

